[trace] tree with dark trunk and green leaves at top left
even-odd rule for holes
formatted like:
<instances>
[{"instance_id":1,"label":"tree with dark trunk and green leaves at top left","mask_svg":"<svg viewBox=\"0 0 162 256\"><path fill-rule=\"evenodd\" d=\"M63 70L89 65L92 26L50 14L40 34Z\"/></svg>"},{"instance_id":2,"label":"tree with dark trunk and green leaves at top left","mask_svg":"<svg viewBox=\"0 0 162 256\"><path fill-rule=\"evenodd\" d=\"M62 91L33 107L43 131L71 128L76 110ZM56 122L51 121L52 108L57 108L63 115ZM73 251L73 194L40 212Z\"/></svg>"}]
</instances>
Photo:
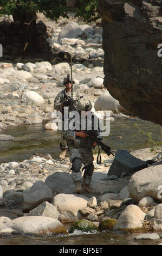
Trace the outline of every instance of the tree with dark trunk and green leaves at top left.
<instances>
[{"instance_id":1,"label":"tree with dark trunk and green leaves at top left","mask_svg":"<svg viewBox=\"0 0 162 256\"><path fill-rule=\"evenodd\" d=\"M76 0L75 17L92 22L99 18L96 13L99 0ZM0 0L0 15L12 15L12 31L17 32L21 26L23 38L22 54L34 54L37 51L39 35L36 29L36 14L43 13L48 19L57 21L59 17L69 18L66 0Z\"/></svg>"}]
</instances>

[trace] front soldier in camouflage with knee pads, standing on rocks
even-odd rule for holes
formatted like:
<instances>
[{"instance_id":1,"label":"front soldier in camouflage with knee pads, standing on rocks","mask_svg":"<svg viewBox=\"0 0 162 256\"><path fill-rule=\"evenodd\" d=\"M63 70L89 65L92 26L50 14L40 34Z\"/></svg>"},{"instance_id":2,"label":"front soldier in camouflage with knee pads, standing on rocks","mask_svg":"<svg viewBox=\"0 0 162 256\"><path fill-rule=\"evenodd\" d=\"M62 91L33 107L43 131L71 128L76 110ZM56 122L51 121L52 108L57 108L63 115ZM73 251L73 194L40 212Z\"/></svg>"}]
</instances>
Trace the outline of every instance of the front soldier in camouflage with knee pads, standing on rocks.
<instances>
[{"instance_id":1,"label":"front soldier in camouflage with knee pads, standing on rocks","mask_svg":"<svg viewBox=\"0 0 162 256\"><path fill-rule=\"evenodd\" d=\"M92 181L92 175L94 172L94 165L93 165L93 153L92 148L94 148L97 143L94 139L90 138L90 136L85 132L87 129L87 114L86 108L88 106L88 112L92 108L92 105L89 100L82 98L77 102L76 109L80 113L79 127L80 130L67 130L63 131L63 136L67 139L68 143L68 150L69 150L69 159L72 162L72 179L75 183L75 192L81 193L82 190L95 193L95 190L90 186ZM90 113L90 112L89 112ZM91 112L92 113L92 112ZM85 114L85 124L86 129L85 131L81 131L81 115ZM98 118L96 118L98 120ZM69 119L70 121L70 119ZM75 127L76 122L75 122ZM92 119L92 130L96 133L97 137L100 137L100 130L94 130L94 121ZM100 137L101 138L101 137ZM85 169L83 179L81 173L81 165L85 164ZM83 186L81 187L81 181L83 181Z\"/></svg>"}]
</instances>

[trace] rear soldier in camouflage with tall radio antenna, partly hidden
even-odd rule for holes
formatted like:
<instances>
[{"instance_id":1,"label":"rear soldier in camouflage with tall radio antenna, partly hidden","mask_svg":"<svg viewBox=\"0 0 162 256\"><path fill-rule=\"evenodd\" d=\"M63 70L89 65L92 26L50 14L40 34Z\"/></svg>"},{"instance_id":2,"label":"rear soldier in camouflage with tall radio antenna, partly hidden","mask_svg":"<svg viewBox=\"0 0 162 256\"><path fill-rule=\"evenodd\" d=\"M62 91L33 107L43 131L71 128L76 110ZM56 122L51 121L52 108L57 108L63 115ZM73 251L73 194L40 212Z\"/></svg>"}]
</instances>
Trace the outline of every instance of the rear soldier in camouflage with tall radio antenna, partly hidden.
<instances>
[{"instance_id":1,"label":"rear soldier in camouflage with tall radio antenna, partly hidden","mask_svg":"<svg viewBox=\"0 0 162 256\"><path fill-rule=\"evenodd\" d=\"M73 96L73 99L75 101L79 100L82 97L81 94L76 90L73 90L73 95L72 95L72 82L69 80L69 75L67 75L67 77L64 77L63 85L66 86L66 88L56 96L54 101L54 108L58 111L61 111L62 117L63 117L63 108L69 105L67 96L70 96L70 97ZM63 135L61 136L60 148L61 148L61 154L59 155L59 158L64 159L67 151L67 141L66 139L64 139Z\"/></svg>"}]
</instances>

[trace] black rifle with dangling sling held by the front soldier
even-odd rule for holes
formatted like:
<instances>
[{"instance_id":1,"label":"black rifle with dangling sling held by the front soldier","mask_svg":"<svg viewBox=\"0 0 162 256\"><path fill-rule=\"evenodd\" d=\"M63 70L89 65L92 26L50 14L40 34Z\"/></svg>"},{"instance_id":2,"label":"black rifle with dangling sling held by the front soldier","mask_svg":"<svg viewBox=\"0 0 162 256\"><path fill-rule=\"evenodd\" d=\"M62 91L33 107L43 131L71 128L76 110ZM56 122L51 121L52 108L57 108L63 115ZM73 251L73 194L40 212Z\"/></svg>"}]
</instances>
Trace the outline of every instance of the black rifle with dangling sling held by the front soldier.
<instances>
[{"instance_id":1,"label":"black rifle with dangling sling held by the front soldier","mask_svg":"<svg viewBox=\"0 0 162 256\"><path fill-rule=\"evenodd\" d=\"M111 155L111 154L114 156L114 154L110 151L111 148L108 147L106 144L104 144L104 143L101 141L101 139L96 136L96 134L95 134L94 131L88 130L88 131L86 131L86 133L87 133L91 138L93 138L94 141L96 141L96 143L98 143L98 146L99 146L99 152L98 152L98 157L97 157L97 163L98 163L98 164L101 163L100 147L101 147L101 149L102 149L103 151L105 151L105 153L106 153L108 156ZM99 160L99 157L100 157L100 160Z\"/></svg>"}]
</instances>

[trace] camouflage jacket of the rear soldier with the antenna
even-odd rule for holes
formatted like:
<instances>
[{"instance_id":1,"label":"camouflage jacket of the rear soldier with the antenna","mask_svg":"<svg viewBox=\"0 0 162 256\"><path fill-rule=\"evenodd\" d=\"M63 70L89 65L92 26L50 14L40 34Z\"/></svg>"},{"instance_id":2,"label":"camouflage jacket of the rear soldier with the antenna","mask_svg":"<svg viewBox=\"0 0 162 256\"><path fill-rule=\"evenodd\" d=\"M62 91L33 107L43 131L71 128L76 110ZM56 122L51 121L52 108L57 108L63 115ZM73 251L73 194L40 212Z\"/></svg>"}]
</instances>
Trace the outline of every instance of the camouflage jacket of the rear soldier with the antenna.
<instances>
[{"instance_id":1,"label":"camouflage jacket of the rear soldier with the antenna","mask_svg":"<svg viewBox=\"0 0 162 256\"><path fill-rule=\"evenodd\" d=\"M57 94L57 96L55 97L55 100L54 100L54 108L56 110L59 110L59 111L63 111L63 107L61 106L61 103L63 101L66 101L67 98L66 98L66 94L70 97L72 97L72 92L67 92L66 91L66 88L64 90L62 90L59 94ZM79 100L81 98L81 94L79 92L77 92L76 90L73 90L73 99L74 100Z\"/></svg>"}]
</instances>

